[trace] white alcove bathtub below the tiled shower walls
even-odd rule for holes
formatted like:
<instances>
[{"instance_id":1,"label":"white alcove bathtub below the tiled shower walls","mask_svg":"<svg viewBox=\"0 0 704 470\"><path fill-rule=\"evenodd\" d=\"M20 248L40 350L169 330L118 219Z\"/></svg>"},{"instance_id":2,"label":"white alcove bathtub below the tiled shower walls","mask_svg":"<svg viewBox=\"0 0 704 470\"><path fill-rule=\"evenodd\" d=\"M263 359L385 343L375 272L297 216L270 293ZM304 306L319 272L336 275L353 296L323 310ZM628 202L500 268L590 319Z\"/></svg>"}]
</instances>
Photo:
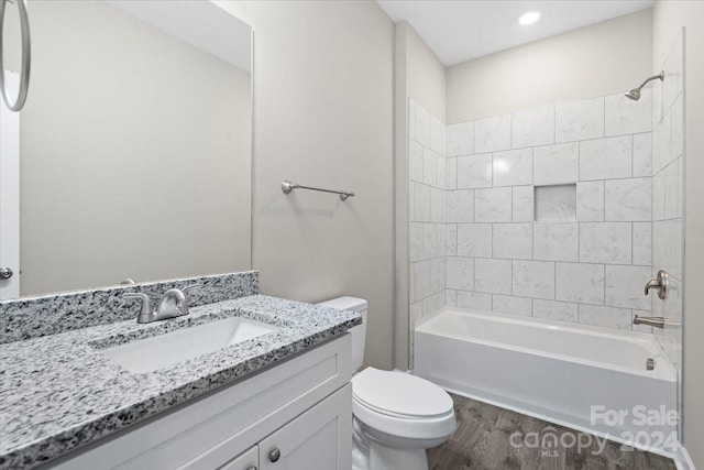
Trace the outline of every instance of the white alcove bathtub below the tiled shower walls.
<instances>
[{"instance_id":1,"label":"white alcove bathtub below the tiled shower walls","mask_svg":"<svg viewBox=\"0 0 704 470\"><path fill-rule=\"evenodd\" d=\"M452 392L673 451L676 372L651 335L446 307L416 325L414 348L414 373Z\"/></svg>"}]
</instances>

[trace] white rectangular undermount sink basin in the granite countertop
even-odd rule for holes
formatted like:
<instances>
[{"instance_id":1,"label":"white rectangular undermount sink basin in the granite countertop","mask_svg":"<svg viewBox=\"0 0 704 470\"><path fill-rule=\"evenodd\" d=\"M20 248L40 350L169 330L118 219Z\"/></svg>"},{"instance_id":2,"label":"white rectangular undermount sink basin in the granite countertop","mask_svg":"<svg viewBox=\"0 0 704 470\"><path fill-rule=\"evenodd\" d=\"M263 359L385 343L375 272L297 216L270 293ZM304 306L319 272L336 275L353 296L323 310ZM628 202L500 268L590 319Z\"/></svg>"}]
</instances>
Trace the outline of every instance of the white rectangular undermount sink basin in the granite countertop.
<instances>
[{"instance_id":1,"label":"white rectangular undermount sink basin in the granite countertop","mask_svg":"<svg viewBox=\"0 0 704 470\"><path fill-rule=\"evenodd\" d=\"M130 372L152 372L277 330L271 325L231 317L114 346L100 352Z\"/></svg>"}]
</instances>

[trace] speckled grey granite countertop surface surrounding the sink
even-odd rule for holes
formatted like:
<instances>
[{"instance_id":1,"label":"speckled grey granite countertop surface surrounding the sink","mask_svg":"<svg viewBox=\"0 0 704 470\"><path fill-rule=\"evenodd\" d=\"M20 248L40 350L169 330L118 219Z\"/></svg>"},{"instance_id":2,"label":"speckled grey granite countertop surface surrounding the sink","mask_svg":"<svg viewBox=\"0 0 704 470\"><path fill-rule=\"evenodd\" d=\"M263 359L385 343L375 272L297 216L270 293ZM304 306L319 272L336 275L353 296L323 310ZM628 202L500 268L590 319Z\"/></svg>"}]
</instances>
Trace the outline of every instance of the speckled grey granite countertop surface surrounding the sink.
<instances>
[{"instance_id":1,"label":"speckled grey granite countertop surface surrounding the sink","mask_svg":"<svg viewBox=\"0 0 704 470\"><path fill-rule=\"evenodd\" d=\"M151 373L129 372L100 352L231 316L279 329ZM353 311L251 295L147 325L119 321L0 345L0 469L46 462L361 323Z\"/></svg>"}]
</instances>

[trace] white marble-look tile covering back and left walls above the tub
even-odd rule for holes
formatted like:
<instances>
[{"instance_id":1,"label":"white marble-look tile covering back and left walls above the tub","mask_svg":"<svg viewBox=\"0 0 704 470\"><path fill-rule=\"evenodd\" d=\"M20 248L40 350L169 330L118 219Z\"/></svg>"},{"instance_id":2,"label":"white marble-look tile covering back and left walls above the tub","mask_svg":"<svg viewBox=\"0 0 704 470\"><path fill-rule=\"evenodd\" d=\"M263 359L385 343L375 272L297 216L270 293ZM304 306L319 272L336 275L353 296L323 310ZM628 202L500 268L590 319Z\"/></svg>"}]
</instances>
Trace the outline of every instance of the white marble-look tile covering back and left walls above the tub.
<instances>
[{"instance_id":1,"label":"white marble-look tile covering back and left walls above the tub","mask_svg":"<svg viewBox=\"0 0 704 470\"><path fill-rule=\"evenodd\" d=\"M443 304L623 329L650 315L651 116L647 90L617 94L448 125L443 149L411 102L411 323Z\"/></svg>"}]
</instances>

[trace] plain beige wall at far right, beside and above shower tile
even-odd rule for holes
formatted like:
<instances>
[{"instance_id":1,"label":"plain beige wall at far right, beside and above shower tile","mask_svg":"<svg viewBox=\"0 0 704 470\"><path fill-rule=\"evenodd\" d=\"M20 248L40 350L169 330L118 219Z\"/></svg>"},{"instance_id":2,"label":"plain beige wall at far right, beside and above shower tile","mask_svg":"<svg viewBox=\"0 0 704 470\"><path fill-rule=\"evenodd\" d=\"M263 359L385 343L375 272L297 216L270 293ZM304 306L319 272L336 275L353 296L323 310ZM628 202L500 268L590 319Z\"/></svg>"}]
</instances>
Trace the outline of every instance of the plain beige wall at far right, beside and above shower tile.
<instances>
[{"instance_id":1,"label":"plain beige wall at far right, beside and above shower tile","mask_svg":"<svg viewBox=\"0 0 704 470\"><path fill-rule=\"evenodd\" d=\"M683 326L683 442L694 463L704 468L704 2L658 1L653 14L653 67L664 62L682 26L685 109L685 259Z\"/></svg>"}]
</instances>

